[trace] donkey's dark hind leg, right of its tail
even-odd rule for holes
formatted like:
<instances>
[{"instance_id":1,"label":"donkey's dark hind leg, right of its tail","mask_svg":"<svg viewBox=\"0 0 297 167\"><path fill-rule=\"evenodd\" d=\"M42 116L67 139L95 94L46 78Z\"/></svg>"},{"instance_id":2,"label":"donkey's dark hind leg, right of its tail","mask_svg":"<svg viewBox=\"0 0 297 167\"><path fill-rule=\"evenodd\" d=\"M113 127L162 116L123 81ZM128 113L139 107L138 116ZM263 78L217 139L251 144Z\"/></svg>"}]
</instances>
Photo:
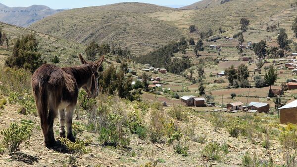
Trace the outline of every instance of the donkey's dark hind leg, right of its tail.
<instances>
[{"instance_id":1,"label":"donkey's dark hind leg, right of its tail","mask_svg":"<svg viewBox=\"0 0 297 167\"><path fill-rule=\"evenodd\" d=\"M47 145L54 146L55 145L55 139L53 135L53 120L56 117L56 109L50 108L49 109L49 116L48 116L48 135L47 135Z\"/></svg>"}]
</instances>

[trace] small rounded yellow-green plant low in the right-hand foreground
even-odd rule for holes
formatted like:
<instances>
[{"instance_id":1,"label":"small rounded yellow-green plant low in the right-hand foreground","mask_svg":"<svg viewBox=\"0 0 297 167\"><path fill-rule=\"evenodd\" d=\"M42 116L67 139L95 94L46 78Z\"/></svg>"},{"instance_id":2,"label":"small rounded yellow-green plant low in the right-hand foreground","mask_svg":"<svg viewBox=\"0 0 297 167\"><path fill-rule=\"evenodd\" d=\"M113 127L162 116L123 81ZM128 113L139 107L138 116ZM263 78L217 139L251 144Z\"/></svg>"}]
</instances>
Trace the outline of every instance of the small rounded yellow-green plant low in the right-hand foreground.
<instances>
[{"instance_id":1,"label":"small rounded yellow-green plant low in the right-hand foreground","mask_svg":"<svg viewBox=\"0 0 297 167\"><path fill-rule=\"evenodd\" d=\"M208 160L220 160L221 159L221 148L217 142L209 142L202 150L202 155Z\"/></svg>"}]
</instances>

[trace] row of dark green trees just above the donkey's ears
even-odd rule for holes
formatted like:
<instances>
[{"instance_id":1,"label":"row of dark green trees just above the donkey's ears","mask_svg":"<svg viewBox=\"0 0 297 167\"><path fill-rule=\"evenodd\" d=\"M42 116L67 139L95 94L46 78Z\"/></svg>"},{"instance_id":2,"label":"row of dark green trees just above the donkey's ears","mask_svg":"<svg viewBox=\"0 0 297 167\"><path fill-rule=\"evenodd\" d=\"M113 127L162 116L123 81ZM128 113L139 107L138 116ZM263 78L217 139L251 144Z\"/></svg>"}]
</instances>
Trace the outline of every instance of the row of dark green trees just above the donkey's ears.
<instances>
[{"instance_id":1,"label":"row of dark green trees just above the donkey's ears","mask_svg":"<svg viewBox=\"0 0 297 167\"><path fill-rule=\"evenodd\" d=\"M130 51L127 49L122 49L121 47L114 48L114 46L110 47L109 44L103 43L99 45L95 41L92 41L85 49L87 59L96 60L97 57L111 53L113 55L122 56L125 58L129 58L131 55Z\"/></svg>"}]
</instances>

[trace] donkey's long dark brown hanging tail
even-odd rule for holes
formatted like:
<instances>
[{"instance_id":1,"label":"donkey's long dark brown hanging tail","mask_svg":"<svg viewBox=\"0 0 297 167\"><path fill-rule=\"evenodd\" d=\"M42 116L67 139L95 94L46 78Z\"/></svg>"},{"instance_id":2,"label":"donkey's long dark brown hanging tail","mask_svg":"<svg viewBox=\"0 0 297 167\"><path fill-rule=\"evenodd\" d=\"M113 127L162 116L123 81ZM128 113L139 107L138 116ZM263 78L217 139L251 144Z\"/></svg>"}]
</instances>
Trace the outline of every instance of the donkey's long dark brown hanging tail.
<instances>
[{"instance_id":1,"label":"donkey's long dark brown hanging tail","mask_svg":"<svg viewBox=\"0 0 297 167\"><path fill-rule=\"evenodd\" d=\"M39 84L39 91L35 92L36 105L38 114L40 116L41 127L45 138L49 131L48 127L48 92L45 85Z\"/></svg>"}]
</instances>

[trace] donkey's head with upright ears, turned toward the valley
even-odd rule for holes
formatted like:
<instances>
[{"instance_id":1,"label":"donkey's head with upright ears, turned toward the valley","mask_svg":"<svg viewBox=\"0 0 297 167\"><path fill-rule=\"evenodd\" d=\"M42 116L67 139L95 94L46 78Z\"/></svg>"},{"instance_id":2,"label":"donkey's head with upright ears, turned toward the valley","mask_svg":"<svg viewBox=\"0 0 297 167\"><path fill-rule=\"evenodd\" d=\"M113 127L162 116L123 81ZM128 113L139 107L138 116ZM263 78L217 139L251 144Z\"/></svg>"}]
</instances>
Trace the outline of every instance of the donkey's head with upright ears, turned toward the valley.
<instances>
[{"instance_id":1,"label":"donkey's head with upright ears, turned toward the valley","mask_svg":"<svg viewBox=\"0 0 297 167\"><path fill-rule=\"evenodd\" d=\"M99 67L101 67L104 60L104 56L96 62L87 62L81 54L79 54L79 60L83 65L90 65L92 70L92 75L88 79L87 83L82 86L82 88L88 93L88 98L96 98L99 94L98 89L98 78L99 78Z\"/></svg>"}]
</instances>

